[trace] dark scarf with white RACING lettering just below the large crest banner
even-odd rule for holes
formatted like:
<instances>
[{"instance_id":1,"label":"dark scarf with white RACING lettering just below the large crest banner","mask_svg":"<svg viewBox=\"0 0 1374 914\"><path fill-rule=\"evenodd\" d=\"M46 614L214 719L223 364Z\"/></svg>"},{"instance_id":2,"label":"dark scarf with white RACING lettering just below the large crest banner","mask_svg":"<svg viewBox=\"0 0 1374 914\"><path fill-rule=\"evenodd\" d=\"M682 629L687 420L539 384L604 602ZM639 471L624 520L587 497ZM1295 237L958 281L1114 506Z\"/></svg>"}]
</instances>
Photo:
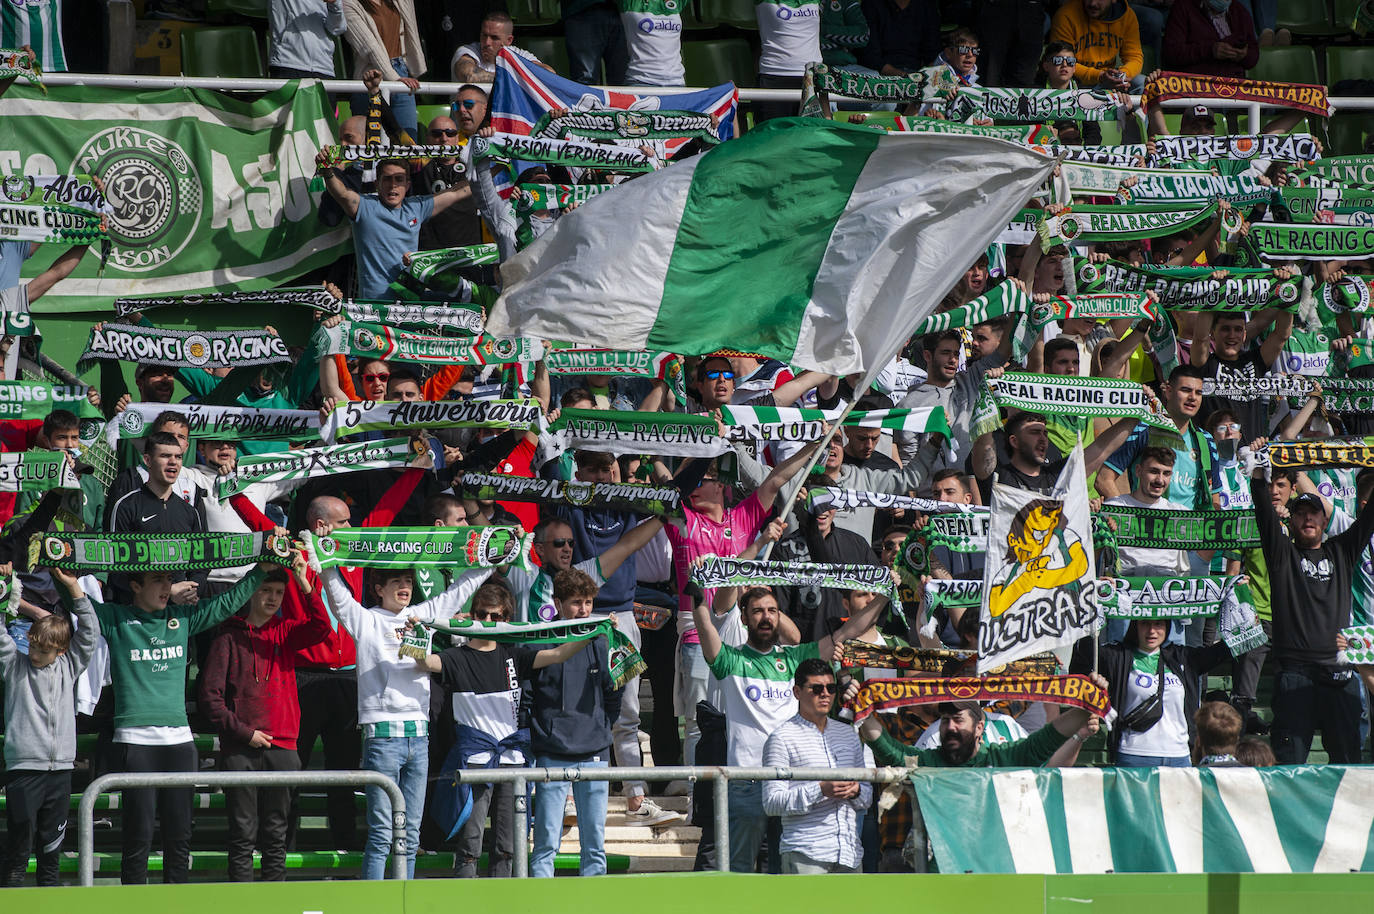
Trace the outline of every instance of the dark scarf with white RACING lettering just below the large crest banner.
<instances>
[{"instance_id":1,"label":"dark scarf with white RACING lettering just below the large crest banner","mask_svg":"<svg viewBox=\"0 0 1374 914\"><path fill-rule=\"evenodd\" d=\"M177 368L239 368L294 361L286 342L265 330L161 330L110 323L91 328L77 372L89 371L98 360L150 361Z\"/></svg>"}]
</instances>

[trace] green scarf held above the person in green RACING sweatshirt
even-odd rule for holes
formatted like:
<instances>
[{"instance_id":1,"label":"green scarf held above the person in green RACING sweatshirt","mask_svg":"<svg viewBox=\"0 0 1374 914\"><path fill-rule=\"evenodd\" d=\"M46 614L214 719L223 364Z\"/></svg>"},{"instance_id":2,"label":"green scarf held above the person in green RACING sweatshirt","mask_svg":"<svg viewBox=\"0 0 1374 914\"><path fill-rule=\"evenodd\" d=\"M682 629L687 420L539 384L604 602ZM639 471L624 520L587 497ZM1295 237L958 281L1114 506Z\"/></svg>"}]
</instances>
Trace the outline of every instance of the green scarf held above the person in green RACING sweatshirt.
<instances>
[{"instance_id":1,"label":"green scarf held above the person in green RACING sweatshirt","mask_svg":"<svg viewBox=\"0 0 1374 914\"><path fill-rule=\"evenodd\" d=\"M253 562L291 564L276 533L34 533L29 562L67 572L203 572Z\"/></svg>"}]
</instances>

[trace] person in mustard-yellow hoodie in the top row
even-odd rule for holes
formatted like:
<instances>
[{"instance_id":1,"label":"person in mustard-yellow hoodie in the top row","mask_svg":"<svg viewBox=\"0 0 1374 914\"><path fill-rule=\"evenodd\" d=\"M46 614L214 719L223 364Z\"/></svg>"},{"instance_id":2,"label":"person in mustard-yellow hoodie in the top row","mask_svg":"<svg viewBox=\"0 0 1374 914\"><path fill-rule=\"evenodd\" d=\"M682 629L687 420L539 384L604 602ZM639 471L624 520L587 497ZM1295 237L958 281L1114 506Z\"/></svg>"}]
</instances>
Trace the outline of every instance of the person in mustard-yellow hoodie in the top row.
<instances>
[{"instance_id":1,"label":"person in mustard-yellow hoodie in the top row","mask_svg":"<svg viewBox=\"0 0 1374 914\"><path fill-rule=\"evenodd\" d=\"M1073 45L1079 85L1121 92L1145 88L1140 23L1125 0L1068 0L1054 14L1050 40Z\"/></svg>"}]
</instances>

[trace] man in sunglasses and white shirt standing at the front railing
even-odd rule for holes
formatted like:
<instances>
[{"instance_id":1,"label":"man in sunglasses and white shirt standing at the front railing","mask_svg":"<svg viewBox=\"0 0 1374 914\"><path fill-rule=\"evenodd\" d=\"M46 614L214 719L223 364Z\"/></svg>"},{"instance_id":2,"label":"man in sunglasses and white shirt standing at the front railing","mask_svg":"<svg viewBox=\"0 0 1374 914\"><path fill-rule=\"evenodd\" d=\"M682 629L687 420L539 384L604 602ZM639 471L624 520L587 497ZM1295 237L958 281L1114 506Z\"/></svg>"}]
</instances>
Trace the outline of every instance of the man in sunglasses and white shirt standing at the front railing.
<instances>
[{"instance_id":1,"label":"man in sunglasses and white shirt standing at the front railing","mask_svg":"<svg viewBox=\"0 0 1374 914\"><path fill-rule=\"evenodd\" d=\"M835 673L804 660L793 679L797 713L764 742L765 768L863 768L859 734L831 720ZM783 873L857 873L863 863L859 816L872 801L861 781L764 781L764 812L782 816Z\"/></svg>"}]
</instances>

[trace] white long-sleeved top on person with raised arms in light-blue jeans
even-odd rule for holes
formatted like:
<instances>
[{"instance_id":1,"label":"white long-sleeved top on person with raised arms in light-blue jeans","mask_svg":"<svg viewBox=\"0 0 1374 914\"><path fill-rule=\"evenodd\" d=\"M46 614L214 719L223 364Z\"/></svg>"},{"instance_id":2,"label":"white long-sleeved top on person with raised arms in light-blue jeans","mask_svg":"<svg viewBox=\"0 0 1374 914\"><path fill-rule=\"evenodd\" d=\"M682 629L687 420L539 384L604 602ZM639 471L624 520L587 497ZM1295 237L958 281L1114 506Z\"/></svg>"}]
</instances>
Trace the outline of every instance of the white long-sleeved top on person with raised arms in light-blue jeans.
<instances>
[{"instance_id":1,"label":"white long-sleeved top on person with raised arms in light-blue jeans","mask_svg":"<svg viewBox=\"0 0 1374 914\"><path fill-rule=\"evenodd\" d=\"M400 656L400 632L409 616L425 623L456 616L492 570L467 572L438 597L400 613L363 606L353 599L338 569L324 570L320 577L330 608L357 642L357 720L364 737L429 735L430 675L411 657Z\"/></svg>"}]
</instances>

